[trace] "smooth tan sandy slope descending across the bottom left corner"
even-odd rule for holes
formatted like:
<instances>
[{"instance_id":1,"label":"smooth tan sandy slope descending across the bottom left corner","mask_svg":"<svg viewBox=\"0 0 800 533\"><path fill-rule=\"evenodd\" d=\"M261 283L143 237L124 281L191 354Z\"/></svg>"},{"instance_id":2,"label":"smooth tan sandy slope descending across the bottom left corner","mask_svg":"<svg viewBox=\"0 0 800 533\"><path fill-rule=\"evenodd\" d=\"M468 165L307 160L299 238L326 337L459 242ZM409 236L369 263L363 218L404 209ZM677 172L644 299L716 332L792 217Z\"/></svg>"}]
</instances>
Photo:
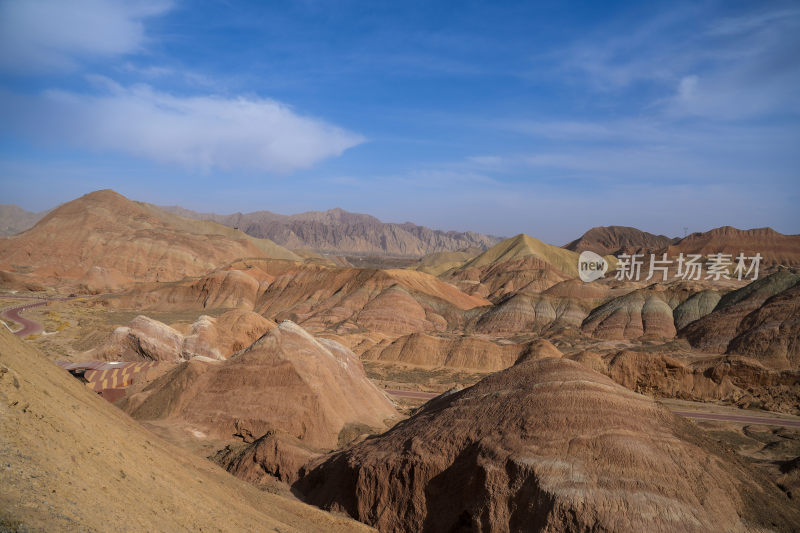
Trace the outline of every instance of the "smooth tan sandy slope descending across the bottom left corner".
<instances>
[{"instance_id":1,"label":"smooth tan sandy slope descending across the bottom left corner","mask_svg":"<svg viewBox=\"0 0 800 533\"><path fill-rule=\"evenodd\" d=\"M142 428L0 331L0 530L358 531Z\"/></svg>"}]
</instances>

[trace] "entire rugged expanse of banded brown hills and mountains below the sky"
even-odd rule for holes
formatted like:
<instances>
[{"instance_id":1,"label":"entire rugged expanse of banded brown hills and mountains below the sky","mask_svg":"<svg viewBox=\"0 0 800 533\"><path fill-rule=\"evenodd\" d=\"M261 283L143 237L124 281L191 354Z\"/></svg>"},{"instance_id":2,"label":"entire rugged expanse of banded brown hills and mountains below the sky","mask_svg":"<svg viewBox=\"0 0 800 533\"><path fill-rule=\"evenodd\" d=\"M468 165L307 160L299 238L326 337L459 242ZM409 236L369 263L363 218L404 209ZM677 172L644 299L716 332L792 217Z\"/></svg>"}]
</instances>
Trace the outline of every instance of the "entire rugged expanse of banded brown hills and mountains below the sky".
<instances>
[{"instance_id":1,"label":"entire rugged expanse of banded brown hills and mountains below the sky","mask_svg":"<svg viewBox=\"0 0 800 533\"><path fill-rule=\"evenodd\" d=\"M800 235L0 226L2 531L800 529Z\"/></svg>"}]
</instances>

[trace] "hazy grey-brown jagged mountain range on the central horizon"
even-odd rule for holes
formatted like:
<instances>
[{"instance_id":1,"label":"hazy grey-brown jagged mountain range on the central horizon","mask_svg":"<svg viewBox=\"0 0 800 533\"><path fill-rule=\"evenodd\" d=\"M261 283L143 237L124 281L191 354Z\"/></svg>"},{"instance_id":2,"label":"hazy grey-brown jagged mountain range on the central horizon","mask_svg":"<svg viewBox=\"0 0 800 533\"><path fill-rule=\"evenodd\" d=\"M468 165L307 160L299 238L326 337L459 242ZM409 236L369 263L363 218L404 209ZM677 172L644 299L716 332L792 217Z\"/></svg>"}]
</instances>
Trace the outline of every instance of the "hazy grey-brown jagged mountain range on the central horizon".
<instances>
[{"instance_id":1,"label":"hazy grey-brown jagged mountain range on the central horizon","mask_svg":"<svg viewBox=\"0 0 800 533\"><path fill-rule=\"evenodd\" d=\"M485 250L501 240L471 231L432 230L410 222L383 223L370 215L348 213L343 209L298 215L279 215L269 211L216 215L174 206L161 209L188 218L238 227L248 235L270 239L287 248L310 248L327 253L420 257L470 247Z\"/></svg>"}]
</instances>

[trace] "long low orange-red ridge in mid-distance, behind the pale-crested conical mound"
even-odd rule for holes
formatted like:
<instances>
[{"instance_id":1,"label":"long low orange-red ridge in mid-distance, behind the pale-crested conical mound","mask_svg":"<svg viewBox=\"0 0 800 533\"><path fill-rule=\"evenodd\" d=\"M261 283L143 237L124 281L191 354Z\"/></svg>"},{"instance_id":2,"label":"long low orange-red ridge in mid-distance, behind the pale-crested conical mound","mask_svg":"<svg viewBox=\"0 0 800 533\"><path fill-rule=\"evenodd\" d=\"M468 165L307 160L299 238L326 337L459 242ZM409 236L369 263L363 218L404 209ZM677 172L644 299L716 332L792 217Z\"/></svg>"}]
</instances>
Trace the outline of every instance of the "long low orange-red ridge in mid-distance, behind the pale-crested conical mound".
<instances>
[{"instance_id":1,"label":"long low orange-red ridge in mid-distance, behind the pale-crested conical mound","mask_svg":"<svg viewBox=\"0 0 800 533\"><path fill-rule=\"evenodd\" d=\"M465 311L491 304L413 270L334 268L290 261L258 265L179 283L141 285L100 303L162 311L236 307L279 321L292 320L314 331L374 331L391 336L457 327L464 322Z\"/></svg>"}]
</instances>

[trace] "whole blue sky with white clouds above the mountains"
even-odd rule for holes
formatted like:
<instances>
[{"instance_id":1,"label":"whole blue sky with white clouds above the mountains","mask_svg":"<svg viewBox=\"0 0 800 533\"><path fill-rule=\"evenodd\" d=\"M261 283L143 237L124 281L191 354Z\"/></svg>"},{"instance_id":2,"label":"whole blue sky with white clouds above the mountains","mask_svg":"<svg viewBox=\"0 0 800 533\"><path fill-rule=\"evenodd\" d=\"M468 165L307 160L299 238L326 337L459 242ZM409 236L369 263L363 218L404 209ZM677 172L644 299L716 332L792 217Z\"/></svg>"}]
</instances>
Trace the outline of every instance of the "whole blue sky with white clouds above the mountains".
<instances>
[{"instance_id":1,"label":"whole blue sky with white clouds above the mountains","mask_svg":"<svg viewBox=\"0 0 800 533\"><path fill-rule=\"evenodd\" d=\"M0 203L800 233L797 2L0 0Z\"/></svg>"}]
</instances>

